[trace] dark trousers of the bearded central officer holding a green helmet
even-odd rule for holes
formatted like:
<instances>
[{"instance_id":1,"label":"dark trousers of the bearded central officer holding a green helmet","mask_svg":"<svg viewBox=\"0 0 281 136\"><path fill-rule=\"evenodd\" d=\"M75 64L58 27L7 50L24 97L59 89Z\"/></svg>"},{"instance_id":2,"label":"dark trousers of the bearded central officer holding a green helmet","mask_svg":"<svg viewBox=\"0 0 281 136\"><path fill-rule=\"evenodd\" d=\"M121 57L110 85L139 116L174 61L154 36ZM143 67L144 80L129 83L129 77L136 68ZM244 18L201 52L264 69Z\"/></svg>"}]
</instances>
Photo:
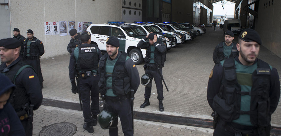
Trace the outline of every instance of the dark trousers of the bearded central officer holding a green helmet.
<instances>
[{"instance_id":1,"label":"dark trousers of the bearded central officer holding a green helmet","mask_svg":"<svg viewBox=\"0 0 281 136\"><path fill-rule=\"evenodd\" d=\"M106 103L112 107L112 112L120 117L124 136L133 136L131 100L127 98L123 101L111 101L106 98ZM109 136L118 136L117 124L118 118L112 123L114 128L109 128Z\"/></svg>"}]
</instances>

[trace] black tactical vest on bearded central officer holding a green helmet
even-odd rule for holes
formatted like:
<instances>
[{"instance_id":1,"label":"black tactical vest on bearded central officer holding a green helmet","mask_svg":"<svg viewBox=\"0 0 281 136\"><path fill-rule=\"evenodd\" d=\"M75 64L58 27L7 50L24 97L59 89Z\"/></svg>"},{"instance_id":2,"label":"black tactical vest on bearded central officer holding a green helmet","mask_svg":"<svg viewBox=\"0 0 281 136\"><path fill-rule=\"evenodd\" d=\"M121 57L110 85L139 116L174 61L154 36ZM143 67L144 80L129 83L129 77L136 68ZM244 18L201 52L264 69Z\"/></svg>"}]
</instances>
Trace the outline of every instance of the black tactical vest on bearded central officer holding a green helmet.
<instances>
[{"instance_id":1,"label":"black tactical vest on bearded central officer holding a green helmet","mask_svg":"<svg viewBox=\"0 0 281 136\"><path fill-rule=\"evenodd\" d=\"M111 75L106 74L107 53L101 57L99 65L101 76L99 82L99 91L101 95L105 95L107 89L112 89L115 95L126 95L130 92L130 77L125 69L127 54L122 51L120 53L121 55L118 57ZM106 79L108 77L112 77L111 87L106 87Z\"/></svg>"}]
</instances>

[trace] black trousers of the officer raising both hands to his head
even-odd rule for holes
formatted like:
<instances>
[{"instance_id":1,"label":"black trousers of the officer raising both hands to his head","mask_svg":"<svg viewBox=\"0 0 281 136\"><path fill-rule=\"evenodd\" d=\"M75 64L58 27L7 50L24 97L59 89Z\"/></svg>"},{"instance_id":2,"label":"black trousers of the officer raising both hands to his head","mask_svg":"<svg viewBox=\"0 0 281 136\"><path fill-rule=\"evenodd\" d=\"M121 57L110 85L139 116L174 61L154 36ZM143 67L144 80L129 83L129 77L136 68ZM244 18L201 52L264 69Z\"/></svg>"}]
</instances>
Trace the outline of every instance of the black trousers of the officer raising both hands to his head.
<instances>
[{"instance_id":1,"label":"black trousers of the officer raising both hands to his head","mask_svg":"<svg viewBox=\"0 0 281 136\"><path fill-rule=\"evenodd\" d=\"M159 69L160 73L162 75L162 68ZM159 73L159 71L156 70L150 70L149 68L146 69L146 74L148 74L152 79L154 78L154 82L156 84L156 89L157 89L157 99L159 100L163 100L164 96L163 96L163 84L162 84L162 78L161 75ZM163 75L162 75L163 76ZM152 82L152 79L150 82ZM151 95L151 87L145 88L145 93L144 93L144 98L149 99Z\"/></svg>"}]
</instances>

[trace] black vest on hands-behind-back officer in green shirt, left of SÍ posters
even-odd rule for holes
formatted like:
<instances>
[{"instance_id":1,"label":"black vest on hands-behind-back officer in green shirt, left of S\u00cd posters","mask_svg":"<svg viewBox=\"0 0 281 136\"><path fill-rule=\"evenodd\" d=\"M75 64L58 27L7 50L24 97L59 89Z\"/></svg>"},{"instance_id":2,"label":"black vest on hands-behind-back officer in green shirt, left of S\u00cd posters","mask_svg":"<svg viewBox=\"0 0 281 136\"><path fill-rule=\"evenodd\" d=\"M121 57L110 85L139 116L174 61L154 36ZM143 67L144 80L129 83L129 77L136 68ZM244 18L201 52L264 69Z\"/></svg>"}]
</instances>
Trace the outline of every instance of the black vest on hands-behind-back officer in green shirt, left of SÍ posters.
<instances>
[{"instance_id":1,"label":"black vest on hands-behind-back officer in green shirt, left of S\u00cd posters","mask_svg":"<svg viewBox=\"0 0 281 136\"><path fill-rule=\"evenodd\" d=\"M28 38L25 39L25 41L23 42L24 45L24 56L27 55L27 41ZM36 37L33 37L30 46L29 46L29 56L39 56L39 48L37 47L36 42L38 41L38 39Z\"/></svg>"}]
</instances>

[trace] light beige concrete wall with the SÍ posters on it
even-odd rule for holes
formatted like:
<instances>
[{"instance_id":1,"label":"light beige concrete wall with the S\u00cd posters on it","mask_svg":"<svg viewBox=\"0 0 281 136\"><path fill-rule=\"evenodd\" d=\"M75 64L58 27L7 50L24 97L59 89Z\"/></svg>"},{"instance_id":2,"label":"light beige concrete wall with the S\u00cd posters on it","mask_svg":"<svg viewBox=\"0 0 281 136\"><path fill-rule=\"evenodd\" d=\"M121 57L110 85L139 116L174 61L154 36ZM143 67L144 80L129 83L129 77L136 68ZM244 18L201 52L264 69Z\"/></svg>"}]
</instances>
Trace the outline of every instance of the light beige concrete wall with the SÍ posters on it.
<instances>
[{"instance_id":1,"label":"light beige concrete wall with the S\u00cd posters on it","mask_svg":"<svg viewBox=\"0 0 281 136\"><path fill-rule=\"evenodd\" d=\"M75 21L107 23L108 20L122 19L121 0L29 0L10 1L11 32L14 27L20 29L26 37L28 29L44 44L48 58L68 54L67 45L70 35L44 35L44 22ZM68 32L68 28L67 28ZM11 34L10 36L12 36Z\"/></svg>"}]
</instances>

